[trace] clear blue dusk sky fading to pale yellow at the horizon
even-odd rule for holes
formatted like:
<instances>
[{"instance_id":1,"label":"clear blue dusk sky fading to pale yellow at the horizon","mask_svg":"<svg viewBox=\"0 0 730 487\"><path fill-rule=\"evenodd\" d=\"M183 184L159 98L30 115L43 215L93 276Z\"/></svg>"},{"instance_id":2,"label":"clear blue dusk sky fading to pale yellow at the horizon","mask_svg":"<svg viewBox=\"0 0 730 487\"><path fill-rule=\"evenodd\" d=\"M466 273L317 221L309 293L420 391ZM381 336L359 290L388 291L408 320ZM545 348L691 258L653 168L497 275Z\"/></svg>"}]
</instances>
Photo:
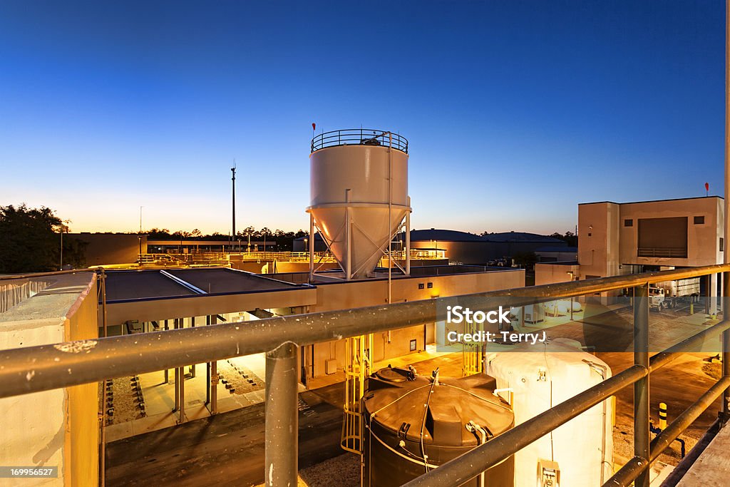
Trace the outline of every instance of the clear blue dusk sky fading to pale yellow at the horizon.
<instances>
[{"instance_id":1,"label":"clear blue dusk sky fading to pale yellow at the horizon","mask_svg":"<svg viewBox=\"0 0 730 487\"><path fill-rule=\"evenodd\" d=\"M722 193L724 2L0 2L0 204L306 229L311 123L410 140L415 228Z\"/></svg>"}]
</instances>

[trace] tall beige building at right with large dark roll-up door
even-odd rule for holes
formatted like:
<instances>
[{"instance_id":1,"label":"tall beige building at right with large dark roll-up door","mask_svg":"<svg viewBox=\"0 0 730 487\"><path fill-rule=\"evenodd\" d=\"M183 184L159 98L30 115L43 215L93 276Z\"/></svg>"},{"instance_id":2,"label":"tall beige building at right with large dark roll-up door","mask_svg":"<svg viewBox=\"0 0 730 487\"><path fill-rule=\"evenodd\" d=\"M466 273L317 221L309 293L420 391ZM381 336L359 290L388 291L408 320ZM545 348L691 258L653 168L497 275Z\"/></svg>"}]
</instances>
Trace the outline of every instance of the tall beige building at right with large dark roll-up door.
<instances>
[{"instance_id":1,"label":"tall beige building at right with large dark roll-up door","mask_svg":"<svg viewBox=\"0 0 730 487\"><path fill-rule=\"evenodd\" d=\"M723 231L719 196L579 204L577 262L536 264L535 283L721 264Z\"/></svg>"}]
</instances>

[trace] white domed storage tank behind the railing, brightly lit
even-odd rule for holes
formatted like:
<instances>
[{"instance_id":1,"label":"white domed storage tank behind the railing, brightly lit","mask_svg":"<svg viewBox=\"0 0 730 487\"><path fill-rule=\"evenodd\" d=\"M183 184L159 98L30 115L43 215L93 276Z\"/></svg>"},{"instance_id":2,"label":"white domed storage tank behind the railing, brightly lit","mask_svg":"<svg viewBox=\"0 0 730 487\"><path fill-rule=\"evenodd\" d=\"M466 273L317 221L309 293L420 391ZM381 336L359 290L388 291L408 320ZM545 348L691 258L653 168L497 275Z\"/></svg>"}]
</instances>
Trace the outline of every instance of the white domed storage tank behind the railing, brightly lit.
<instances>
[{"instance_id":1,"label":"white domed storage tank behind the railing, brightly lit","mask_svg":"<svg viewBox=\"0 0 730 487\"><path fill-rule=\"evenodd\" d=\"M497 387L511 390L501 394L511 392L515 426L611 376L608 365L575 340L513 345L489 353L486 364ZM539 466L553 468L553 462L561 487L602 486L613 473L612 412L608 399L515 453L515 486L541 485Z\"/></svg>"}]
</instances>

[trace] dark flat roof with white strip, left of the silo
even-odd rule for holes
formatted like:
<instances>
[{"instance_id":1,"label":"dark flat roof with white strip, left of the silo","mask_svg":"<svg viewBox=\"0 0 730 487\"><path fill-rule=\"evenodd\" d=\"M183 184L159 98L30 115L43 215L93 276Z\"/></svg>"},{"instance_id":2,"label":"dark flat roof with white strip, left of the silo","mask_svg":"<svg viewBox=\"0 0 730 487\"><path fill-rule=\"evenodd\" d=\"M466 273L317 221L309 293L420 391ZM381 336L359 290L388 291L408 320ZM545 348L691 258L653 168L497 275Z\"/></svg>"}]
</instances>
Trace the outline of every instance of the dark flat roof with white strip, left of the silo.
<instances>
[{"instance_id":1,"label":"dark flat roof with white strip, left of the silo","mask_svg":"<svg viewBox=\"0 0 730 487\"><path fill-rule=\"evenodd\" d=\"M288 291L302 285L227 268L107 270L107 302Z\"/></svg>"}]
</instances>

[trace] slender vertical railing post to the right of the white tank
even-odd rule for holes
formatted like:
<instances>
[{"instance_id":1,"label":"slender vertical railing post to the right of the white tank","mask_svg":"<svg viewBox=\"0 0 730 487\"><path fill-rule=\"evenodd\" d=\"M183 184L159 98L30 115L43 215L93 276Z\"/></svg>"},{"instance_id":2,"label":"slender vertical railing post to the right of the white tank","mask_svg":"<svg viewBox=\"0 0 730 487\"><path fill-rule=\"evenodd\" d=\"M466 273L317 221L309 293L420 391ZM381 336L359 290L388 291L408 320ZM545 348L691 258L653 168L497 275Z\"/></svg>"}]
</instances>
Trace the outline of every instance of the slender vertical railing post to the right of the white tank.
<instances>
[{"instance_id":1,"label":"slender vertical railing post to the right of the white tank","mask_svg":"<svg viewBox=\"0 0 730 487\"><path fill-rule=\"evenodd\" d=\"M649 285L634 288L634 364L649 368ZM634 383L634 456L649 461L649 375ZM634 483L649 486L649 469Z\"/></svg>"}]
</instances>

